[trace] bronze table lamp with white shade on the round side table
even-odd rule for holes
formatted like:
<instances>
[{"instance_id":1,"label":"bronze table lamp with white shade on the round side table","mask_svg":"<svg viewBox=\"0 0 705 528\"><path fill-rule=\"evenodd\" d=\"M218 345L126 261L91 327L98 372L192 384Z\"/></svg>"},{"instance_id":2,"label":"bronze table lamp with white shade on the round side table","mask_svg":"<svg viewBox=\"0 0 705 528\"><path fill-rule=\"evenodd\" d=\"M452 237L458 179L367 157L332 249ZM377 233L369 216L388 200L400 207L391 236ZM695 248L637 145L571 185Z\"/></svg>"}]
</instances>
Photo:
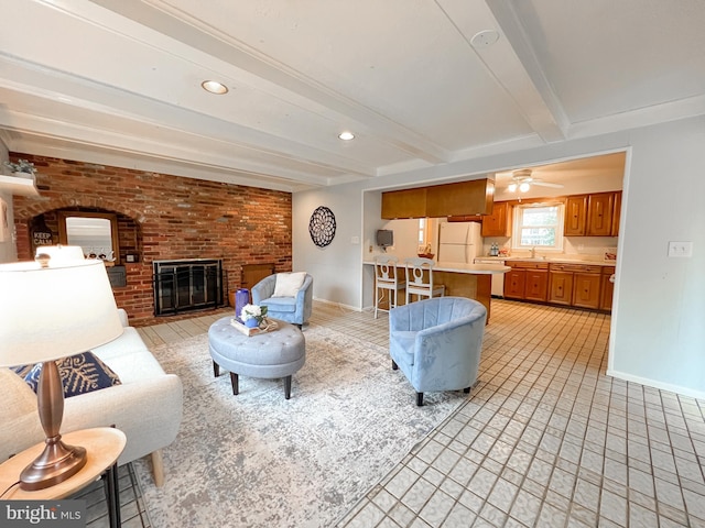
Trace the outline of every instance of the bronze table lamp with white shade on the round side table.
<instances>
[{"instance_id":1,"label":"bronze table lamp with white shade on the round side table","mask_svg":"<svg viewBox=\"0 0 705 528\"><path fill-rule=\"evenodd\" d=\"M46 440L20 475L20 487L29 491L58 484L86 464L85 448L62 442L64 391L55 360L122 333L102 261L46 254L37 261L0 264L0 366L42 363L36 394Z\"/></svg>"}]
</instances>

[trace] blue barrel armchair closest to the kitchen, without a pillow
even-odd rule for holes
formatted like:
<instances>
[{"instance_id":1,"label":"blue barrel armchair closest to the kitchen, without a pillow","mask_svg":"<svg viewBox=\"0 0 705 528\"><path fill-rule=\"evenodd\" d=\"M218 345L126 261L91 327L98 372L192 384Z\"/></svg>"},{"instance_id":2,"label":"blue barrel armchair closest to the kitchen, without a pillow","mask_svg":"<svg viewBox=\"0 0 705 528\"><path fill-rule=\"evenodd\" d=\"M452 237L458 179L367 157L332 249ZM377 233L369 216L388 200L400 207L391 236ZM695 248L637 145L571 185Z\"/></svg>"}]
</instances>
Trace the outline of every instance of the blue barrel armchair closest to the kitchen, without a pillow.
<instances>
[{"instance_id":1,"label":"blue barrel armchair closest to the kitchen, without a pillow","mask_svg":"<svg viewBox=\"0 0 705 528\"><path fill-rule=\"evenodd\" d=\"M389 314L392 369L401 369L423 405L429 391L466 393L477 382L487 310L464 297L433 297Z\"/></svg>"}]
</instances>

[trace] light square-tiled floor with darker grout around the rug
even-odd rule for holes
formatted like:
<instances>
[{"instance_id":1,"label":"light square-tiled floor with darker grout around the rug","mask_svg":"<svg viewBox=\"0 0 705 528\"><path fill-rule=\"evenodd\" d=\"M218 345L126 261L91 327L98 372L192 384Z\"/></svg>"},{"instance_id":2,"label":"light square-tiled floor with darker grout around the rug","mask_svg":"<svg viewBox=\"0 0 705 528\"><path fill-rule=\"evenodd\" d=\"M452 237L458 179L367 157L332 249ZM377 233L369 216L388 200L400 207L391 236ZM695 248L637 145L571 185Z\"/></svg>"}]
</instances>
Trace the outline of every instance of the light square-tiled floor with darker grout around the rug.
<instances>
[{"instance_id":1,"label":"light square-tiled floor with darker grout around the rug","mask_svg":"<svg viewBox=\"0 0 705 528\"><path fill-rule=\"evenodd\" d=\"M140 333L178 341L223 314ZM315 302L312 322L388 342L387 314ZM467 403L338 527L705 527L705 402L606 376L609 322L495 300Z\"/></svg>"}]
</instances>

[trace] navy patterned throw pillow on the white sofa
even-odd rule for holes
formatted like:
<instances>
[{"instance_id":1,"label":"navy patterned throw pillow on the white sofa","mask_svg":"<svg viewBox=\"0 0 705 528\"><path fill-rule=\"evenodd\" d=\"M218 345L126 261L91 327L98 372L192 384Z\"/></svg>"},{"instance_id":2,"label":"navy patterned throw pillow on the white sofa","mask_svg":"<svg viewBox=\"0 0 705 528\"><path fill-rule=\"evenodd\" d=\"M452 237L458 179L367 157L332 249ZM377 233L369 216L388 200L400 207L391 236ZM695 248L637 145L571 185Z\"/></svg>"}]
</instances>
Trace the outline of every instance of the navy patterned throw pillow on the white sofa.
<instances>
[{"instance_id":1,"label":"navy patterned throw pillow on the white sofa","mask_svg":"<svg viewBox=\"0 0 705 528\"><path fill-rule=\"evenodd\" d=\"M100 388L120 385L120 378L93 352L83 352L56 361L58 374L62 376L64 397L91 393ZM13 366L12 370L24 378L36 393L42 373L42 363L35 365Z\"/></svg>"}]
</instances>

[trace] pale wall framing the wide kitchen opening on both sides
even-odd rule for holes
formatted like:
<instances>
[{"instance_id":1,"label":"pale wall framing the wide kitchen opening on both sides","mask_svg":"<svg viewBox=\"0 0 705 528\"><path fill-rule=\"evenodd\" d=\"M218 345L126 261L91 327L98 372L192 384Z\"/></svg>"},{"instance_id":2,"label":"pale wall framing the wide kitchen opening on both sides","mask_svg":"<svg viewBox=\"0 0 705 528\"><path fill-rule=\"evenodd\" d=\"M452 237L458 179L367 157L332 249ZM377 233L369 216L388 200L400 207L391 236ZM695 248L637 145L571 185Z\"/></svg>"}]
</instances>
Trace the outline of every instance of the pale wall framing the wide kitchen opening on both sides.
<instances>
[{"instance_id":1,"label":"pale wall framing the wide kitchen opening on both sides","mask_svg":"<svg viewBox=\"0 0 705 528\"><path fill-rule=\"evenodd\" d=\"M308 190L293 197L294 268L314 275L314 295L361 309L360 245L384 222L379 193L438 178L484 177L500 168L628 150L617 261L609 373L705 398L705 118L566 141L371 182ZM372 205L362 202L371 197ZM377 196L377 198L375 198ZM315 250L307 233L317 205L333 209L344 233ZM668 258L670 240L692 241L692 258Z\"/></svg>"}]
</instances>

